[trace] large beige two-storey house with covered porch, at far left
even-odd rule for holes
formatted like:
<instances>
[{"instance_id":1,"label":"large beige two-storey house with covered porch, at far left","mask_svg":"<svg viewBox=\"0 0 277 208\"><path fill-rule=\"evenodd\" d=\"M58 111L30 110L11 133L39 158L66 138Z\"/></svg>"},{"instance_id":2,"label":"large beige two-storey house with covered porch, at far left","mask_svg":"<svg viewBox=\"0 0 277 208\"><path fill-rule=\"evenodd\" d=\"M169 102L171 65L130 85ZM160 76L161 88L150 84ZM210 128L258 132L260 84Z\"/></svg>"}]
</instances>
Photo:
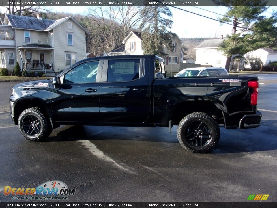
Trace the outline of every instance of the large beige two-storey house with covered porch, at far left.
<instances>
[{"instance_id":1,"label":"large beige two-storey house with covered porch, at far left","mask_svg":"<svg viewBox=\"0 0 277 208\"><path fill-rule=\"evenodd\" d=\"M0 67L57 73L86 56L87 30L72 17L59 20L6 14L0 25Z\"/></svg>"}]
</instances>

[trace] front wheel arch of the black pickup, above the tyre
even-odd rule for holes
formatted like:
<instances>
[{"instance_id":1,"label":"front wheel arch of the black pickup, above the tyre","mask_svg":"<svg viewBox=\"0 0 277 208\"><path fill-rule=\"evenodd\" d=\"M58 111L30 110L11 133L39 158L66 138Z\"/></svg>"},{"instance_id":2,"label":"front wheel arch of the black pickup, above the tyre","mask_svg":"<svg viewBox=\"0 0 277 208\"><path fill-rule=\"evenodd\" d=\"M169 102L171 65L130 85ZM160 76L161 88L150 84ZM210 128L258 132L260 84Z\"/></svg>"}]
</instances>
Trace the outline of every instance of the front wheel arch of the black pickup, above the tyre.
<instances>
[{"instance_id":1,"label":"front wheel arch of the black pickup, above the tyre","mask_svg":"<svg viewBox=\"0 0 277 208\"><path fill-rule=\"evenodd\" d=\"M31 107L38 107L44 116L49 120L52 119L51 109L49 109L44 100L39 98L22 98L18 99L13 105L14 123L18 125L18 118L21 112ZM50 120L49 120L50 122ZM52 123L51 123L52 125Z\"/></svg>"}]
</instances>

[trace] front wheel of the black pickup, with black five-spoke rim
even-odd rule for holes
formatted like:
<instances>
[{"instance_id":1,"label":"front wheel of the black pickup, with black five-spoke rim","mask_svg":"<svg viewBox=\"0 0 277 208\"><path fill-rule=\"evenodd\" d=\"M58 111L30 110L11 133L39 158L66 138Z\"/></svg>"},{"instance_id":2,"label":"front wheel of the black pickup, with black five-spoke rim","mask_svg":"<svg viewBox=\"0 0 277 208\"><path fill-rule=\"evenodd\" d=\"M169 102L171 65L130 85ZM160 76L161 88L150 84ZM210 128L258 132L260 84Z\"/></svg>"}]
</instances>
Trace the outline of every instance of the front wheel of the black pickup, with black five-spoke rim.
<instances>
[{"instance_id":1,"label":"front wheel of the black pickup, with black five-spoke rim","mask_svg":"<svg viewBox=\"0 0 277 208\"><path fill-rule=\"evenodd\" d=\"M18 127L20 133L31 141L42 140L52 132L52 127L48 125L46 117L38 108L28 108L21 112Z\"/></svg>"}]
</instances>

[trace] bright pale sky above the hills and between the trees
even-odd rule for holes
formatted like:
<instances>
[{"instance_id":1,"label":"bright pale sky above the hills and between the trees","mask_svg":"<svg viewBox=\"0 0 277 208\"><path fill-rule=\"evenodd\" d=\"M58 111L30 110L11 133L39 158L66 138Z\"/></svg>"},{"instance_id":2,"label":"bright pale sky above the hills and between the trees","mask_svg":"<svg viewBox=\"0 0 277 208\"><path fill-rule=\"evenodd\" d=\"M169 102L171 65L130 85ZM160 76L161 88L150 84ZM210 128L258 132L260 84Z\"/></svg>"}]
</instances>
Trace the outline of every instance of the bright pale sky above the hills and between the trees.
<instances>
[{"instance_id":1,"label":"bright pale sky above the hills and between the trees","mask_svg":"<svg viewBox=\"0 0 277 208\"><path fill-rule=\"evenodd\" d=\"M58 7L46 7L52 12L69 12L73 14L86 14L89 7L86 6L58 6ZM220 24L220 22L211 20L196 14L201 14L213 19L222 18L221 15L227 12L227 7L194 7L194 6L182 6L179 7L196 14L191 14L179 10L177 8L169 7L172 12L173 24L170 31L176 33L180 38L220 38L220 35L225 37L227 34L231 33L232 25ZM204 9L204 10L203 10ZM0 8L2 12L3 8ZM208 10L208 11L205 11ZM272 12L272 10L277 10L277 7L270 7L267 11ZM218 13L214 14L212 12ZM269 13L265 13L269 15Z\"/></svg>"}]
</instances>

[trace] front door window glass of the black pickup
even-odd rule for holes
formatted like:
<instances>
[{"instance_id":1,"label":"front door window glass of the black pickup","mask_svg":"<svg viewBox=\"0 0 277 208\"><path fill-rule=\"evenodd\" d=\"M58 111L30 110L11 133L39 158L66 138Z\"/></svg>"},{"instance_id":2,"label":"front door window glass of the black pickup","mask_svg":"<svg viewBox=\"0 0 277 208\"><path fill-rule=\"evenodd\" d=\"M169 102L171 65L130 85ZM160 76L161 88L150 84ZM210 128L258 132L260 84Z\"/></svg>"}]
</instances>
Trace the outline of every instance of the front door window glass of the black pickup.
<instances>
[{"instance_id":1,"label":"front door window glass of the black pickup","mask_svg":"<svg viewBox=\"0 0 277 208\"><path fill-rule=\"evenodd\" d=\"M63 83L96 82L99 61L80 64L65 74Z\"/></svg>"}]
</instances>

